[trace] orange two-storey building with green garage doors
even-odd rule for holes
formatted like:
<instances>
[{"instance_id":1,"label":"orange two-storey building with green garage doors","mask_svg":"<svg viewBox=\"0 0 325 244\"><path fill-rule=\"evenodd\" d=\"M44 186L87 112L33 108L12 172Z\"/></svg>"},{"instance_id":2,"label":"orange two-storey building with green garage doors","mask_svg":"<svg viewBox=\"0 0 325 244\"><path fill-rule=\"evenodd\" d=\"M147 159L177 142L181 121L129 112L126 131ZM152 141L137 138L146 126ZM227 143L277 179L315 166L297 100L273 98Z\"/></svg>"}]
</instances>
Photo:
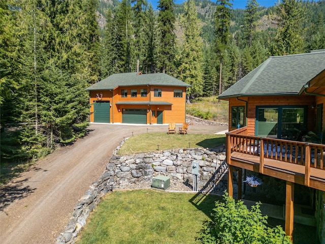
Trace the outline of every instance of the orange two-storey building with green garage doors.
<instances>
[{"instance_id":1,"label":"orange two-storey building with green garage doors","mask_svg":"<svg viewBox=\"0 0 325 244\"><path fill-rule=\"evenodd\" d=\"M184 123L186 87L189 86L165 73L110 75L87 88L90 122Z\"/></svg>"}]
</instances>

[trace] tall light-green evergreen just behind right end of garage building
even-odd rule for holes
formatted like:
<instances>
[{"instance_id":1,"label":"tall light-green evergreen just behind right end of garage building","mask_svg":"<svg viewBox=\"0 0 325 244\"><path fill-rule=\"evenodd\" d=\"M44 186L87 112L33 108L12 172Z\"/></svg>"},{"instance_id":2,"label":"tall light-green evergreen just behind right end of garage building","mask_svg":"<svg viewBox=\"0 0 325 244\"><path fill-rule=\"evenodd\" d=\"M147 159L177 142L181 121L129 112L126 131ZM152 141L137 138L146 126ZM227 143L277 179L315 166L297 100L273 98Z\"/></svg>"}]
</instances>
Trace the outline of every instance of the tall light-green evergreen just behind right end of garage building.
<instances>
[{"instance_id":1,"label":"tall light-green evergreen just behind right end of garage building","mask_svg":"<svg viewBox=\"0 0 325 244\"><path fill-rule=\"evenodd\" d=\"M190 97L200 96L203 93L203 53L201 28L198 13L193 0L184 3L185 13L181 18L184 43L180 55L179 78L192 85L187 89Z\"/></svg>"}]
</instances>

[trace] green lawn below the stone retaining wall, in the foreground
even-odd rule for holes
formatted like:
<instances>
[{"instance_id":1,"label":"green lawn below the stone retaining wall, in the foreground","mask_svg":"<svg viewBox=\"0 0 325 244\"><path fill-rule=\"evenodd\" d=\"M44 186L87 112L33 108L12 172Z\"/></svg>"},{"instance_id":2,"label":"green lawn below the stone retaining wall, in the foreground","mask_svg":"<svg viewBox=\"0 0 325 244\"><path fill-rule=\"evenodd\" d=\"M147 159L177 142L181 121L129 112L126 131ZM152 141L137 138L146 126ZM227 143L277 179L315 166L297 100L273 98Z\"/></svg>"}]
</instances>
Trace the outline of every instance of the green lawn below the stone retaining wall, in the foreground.
<instances>
[{"instance_id":1,"label":"green lawn below the stone retaining wall, in the foreground","mask_svg":"<svg viewBox=\"0 0 325 244\"><path fill-rule=\"evenodd\" d=\"M92 212L76 243L200 243L198 232L218 200L150 189L113 192Z\"/></svg>"}]
</instances>

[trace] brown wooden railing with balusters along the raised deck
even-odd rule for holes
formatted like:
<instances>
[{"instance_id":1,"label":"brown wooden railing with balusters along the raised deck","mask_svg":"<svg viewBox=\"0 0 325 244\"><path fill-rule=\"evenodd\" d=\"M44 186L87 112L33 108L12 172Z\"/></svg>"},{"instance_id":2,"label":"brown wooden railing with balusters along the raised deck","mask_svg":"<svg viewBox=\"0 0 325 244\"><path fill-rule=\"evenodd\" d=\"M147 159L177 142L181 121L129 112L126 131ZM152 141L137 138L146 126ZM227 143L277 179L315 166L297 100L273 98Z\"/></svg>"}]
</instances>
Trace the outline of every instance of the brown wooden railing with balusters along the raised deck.
<instances>
[{"instance_id":1,"label":"brown wooden railing with balusters along the raised deck","mask_svg":"<svg viewBox=\"0 0 325 244\"><path fill-rule=\"evenodd\" d=\"M324 170L325 145L288 141L247 135L247 127L231 131L227 136L227 157L233 151L259 157L259 171L263 173L264 159L305 166L305 185L309 185L310 168Z\"/></svg>"}]
</instances>

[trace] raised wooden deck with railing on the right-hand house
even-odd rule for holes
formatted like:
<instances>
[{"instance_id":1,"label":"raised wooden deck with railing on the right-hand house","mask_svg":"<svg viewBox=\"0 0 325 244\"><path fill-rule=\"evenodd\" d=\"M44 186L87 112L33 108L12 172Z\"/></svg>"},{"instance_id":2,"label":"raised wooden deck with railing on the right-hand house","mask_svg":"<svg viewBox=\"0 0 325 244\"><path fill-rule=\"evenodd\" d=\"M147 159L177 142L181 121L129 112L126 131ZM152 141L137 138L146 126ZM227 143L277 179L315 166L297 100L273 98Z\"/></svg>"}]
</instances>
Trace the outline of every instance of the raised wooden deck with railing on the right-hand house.
<instances>
[{"instance_id":1,"label":"raised wooden deck with railing on the right-hand house","mask_svg":"<svg viewBox=\"0 0 325 244\"><path fill-rule=\"evenodd\" d=\"M325 145L227 133L227 163L325 191ZM322 155L322 157L321 157Z\"/></svg>"}]
</instances>

